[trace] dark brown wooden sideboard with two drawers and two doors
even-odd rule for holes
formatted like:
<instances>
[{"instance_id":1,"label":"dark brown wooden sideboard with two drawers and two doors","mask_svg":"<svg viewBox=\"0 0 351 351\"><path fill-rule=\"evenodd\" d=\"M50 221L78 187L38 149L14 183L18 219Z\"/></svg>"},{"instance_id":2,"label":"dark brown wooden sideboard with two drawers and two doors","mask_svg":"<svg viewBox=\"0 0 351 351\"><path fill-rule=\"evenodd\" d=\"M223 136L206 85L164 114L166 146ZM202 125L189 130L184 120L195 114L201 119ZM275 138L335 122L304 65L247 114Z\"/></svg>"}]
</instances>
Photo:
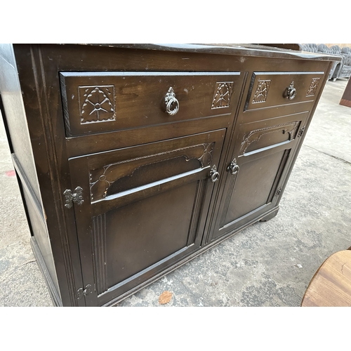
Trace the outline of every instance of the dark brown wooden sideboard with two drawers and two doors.
<instances>
[{"instance_id":1,"label":"dark brown wooden sideboard with two drawers and two doors","mask_svg":"<svg viewBox=\"0 0 351 351\"><path fill-rule=\"evenodd\" d=\"M55 305L115 305L273 218L334 56L1 45L1 112Z\"/></svg>"}]
</instances>

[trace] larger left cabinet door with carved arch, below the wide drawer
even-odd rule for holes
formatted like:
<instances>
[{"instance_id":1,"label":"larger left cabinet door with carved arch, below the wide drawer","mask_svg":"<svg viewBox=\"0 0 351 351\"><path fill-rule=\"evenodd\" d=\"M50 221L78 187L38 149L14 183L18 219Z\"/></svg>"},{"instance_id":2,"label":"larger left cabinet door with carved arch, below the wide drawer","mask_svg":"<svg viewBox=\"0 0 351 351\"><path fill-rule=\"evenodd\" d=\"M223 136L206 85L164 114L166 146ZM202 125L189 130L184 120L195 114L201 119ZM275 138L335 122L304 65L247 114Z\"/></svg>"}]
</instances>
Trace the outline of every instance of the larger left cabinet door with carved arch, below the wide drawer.
<instances>
[{"instance_id":1,"label":"larger left cabinet door with carved arch, below the wide drawer","mask_svg":"<svg viewBox=\"0 0 351 351\"><path fill-rule=\"evenodd\" d=\"M224 136L69 159L72 188L83 189L74 211L86 305L133 291L199 248Z\"/></svg>"}]
</instances>

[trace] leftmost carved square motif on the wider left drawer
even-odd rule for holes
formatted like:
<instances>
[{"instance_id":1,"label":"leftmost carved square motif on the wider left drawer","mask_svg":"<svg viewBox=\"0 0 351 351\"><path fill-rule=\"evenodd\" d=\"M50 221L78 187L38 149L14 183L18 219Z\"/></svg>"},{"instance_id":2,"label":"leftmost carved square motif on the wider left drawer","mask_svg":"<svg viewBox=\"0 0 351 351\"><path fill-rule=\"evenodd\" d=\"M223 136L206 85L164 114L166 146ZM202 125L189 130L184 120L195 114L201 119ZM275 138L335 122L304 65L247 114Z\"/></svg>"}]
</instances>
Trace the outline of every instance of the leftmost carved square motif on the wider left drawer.
<instances>
[{"instance_id":1,"label":"leftmost carved square motif on the wider left drawer","mask_svg":"<svg viewBox=\"0 0 351 351\"><path fill-rule=\"evenodd\" d=\"M116 119L114 86L79 86L81 124Z\"/></svg>"}]
</instances>

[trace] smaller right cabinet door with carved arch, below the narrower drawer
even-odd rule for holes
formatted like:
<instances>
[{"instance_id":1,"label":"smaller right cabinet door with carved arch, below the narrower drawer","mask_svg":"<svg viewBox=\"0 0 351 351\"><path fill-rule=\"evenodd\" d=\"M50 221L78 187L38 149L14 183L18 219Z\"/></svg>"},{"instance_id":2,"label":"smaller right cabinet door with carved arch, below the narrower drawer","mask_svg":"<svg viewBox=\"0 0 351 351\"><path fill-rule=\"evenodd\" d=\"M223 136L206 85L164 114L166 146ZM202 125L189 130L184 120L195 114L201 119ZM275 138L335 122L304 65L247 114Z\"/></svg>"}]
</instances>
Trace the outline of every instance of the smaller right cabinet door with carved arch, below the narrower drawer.
<instances>
[{"instance_id":1,"label":"smaller right cabinet door with carved arch, below the narrower drawer","mask_svg":"<svg viewBox=\"0 0 351 351\"><path fill-rule=\"evenodd\" d=\"M249 225L277 206L307 116L303 112L237 127L209 241Z\"/></svg>"}]
</instances>

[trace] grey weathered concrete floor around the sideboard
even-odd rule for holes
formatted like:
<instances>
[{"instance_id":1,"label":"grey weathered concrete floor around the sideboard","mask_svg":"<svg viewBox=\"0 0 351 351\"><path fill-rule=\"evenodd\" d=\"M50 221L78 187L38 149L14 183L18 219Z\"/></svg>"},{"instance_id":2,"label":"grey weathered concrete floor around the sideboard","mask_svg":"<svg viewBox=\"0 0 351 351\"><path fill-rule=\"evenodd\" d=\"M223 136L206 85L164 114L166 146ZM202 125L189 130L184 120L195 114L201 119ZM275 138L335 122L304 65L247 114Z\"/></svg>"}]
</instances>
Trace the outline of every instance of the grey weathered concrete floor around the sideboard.
<instances>
[{"instance_id":1,"label":"grey weathered concrete floor around the sideboard","mask_svg":"<svg viewBox=\"0 0 351 351\"><path fill-rule=\"evenodd\" d=\"M159 306L299 306L314 272L351 246L351 108L347 80L329 81L282 197L256 223L119 303ZM53 306L29 246L29 229L0 123L0 306Z\"/></svg>"}]
</instances>

